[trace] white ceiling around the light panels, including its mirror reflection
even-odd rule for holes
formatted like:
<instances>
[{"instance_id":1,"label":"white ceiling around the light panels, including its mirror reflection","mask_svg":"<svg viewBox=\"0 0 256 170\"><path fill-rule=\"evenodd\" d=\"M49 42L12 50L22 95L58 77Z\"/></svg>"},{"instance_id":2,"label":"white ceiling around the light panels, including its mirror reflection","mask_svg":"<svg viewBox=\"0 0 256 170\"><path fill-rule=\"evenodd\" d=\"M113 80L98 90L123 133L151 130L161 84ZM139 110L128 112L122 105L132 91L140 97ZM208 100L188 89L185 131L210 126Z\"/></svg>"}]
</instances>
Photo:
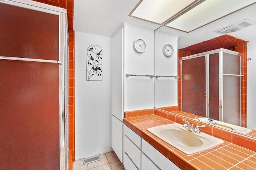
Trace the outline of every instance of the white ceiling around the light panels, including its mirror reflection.
<instances>
[{"instance_id":1,"label":"white ceiling around the light panels, including its mirror reflection","mask_svg":"<svg viewBox=\"0 0 256 170\"><path fill-rule=\"evenodd\" d=\"M74 0L74 31L112 37L122 27L129 23L155 30L160 25L129 17L128 15L139 0ZM169 27L161 27L161 32L178 36L178 49L200 43L222 34L213 31L238 21L251 20L256 23L256 4L238 12L216 20L190 33L178 31ZM256 39L256 24L240 31L229 33L234 37L252 41Z\"/></svg>"}]
</instances>

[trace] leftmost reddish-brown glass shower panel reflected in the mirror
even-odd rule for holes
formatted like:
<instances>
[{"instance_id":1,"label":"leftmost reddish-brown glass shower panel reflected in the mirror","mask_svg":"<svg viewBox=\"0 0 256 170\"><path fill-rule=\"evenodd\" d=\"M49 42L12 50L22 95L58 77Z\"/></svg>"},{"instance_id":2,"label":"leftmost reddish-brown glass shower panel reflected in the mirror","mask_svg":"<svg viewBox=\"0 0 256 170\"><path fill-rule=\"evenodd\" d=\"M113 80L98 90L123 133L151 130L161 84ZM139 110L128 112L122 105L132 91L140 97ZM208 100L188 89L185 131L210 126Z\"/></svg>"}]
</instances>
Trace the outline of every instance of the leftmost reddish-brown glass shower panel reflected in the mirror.
<instances>
[{"instance_id":1,"label":"leftmost reddish-brown glass shower panel reflected in the mirror","mask_svg":"<svg viewBox=\"0 0 256 170\"><path fill-rule=\"evenodd\" d=\"M206 117L206 57L182 60L182 111Z\"/></svg>"}]
</instances>

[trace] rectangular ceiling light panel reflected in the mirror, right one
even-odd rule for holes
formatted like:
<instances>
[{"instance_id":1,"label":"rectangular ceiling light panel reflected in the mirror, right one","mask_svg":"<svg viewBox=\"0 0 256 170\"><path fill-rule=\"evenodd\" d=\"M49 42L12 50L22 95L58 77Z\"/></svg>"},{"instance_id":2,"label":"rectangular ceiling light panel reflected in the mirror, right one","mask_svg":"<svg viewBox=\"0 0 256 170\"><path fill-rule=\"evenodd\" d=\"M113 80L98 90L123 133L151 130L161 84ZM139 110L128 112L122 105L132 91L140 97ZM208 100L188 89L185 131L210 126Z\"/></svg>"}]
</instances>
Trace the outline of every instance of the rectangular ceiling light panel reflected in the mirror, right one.
<instances>
[{"instance_id":1,"label":"rectangular ceiling light panel reflected in the mirror, right one","mask_svg":"<svg viewBox=\"0 0 256 170\"><path fill-rule=\"evenodd\" d=\"M256 0L205 0L166 26L190 32L254 2Z\"/></svg>"}]
</instances>

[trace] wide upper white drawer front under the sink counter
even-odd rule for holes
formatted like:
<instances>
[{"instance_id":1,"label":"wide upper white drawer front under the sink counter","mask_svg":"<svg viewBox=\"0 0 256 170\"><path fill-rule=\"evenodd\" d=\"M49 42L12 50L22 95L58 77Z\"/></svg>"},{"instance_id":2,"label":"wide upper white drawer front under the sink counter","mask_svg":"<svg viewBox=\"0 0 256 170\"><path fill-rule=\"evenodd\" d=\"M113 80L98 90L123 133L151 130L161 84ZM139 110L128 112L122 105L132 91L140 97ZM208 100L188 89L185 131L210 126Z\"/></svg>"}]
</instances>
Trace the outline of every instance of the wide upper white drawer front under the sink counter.
<instances>
[{"instance_id":1,"label":"wide upper white drawer front under the sink counter","mask_svg":"<svg viewBox=\"0 0 256 170\"><path fill-rule=\"evenodd\" d=\"M141 150L162 170L180 170L180 168L142 139Z\"/></svg>"}]
</instances>

